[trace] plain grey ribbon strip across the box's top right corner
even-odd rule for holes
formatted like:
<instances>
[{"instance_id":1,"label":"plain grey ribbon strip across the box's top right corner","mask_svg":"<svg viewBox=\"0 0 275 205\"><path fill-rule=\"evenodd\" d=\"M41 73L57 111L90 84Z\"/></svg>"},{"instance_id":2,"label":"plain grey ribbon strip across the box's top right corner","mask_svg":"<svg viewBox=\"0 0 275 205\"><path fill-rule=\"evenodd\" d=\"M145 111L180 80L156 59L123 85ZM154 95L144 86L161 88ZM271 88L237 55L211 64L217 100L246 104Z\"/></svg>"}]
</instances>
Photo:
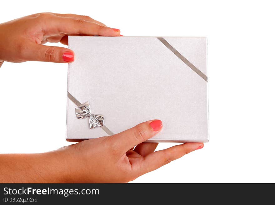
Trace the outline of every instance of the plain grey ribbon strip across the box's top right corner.
<instances>
[{"instance_id":1,"label":"plain grey ribbon strip across the box's top right corner","mask_svg":"<svg viewBox=\"0 0 275 205\"><path fill-rule=\"evenodd\" d=\"M164 44L170 51L172 51L179 59L181 59L189 68L191 68L195 73L202 77L203 80L208 82L207 76L197 69L190 61L188 61L182 54L180 54L170 43L168 43L163 37L157 37L160 42Z\"/></svg>"}]
</instances>

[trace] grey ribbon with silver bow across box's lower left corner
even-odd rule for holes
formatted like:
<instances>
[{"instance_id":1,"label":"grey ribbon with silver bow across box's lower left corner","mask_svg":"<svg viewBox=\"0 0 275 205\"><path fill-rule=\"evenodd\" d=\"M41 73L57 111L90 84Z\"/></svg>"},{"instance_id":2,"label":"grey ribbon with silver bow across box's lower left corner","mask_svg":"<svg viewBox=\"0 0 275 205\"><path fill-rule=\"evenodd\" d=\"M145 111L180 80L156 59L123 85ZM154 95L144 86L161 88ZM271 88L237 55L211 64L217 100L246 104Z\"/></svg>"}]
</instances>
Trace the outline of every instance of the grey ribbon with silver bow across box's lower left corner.
<instances>
[{"instance_id":1,"label":"grey ribbon with silver bow across box's lower left corner","mask_svg":"<svg viewBox=\"0 0 275 205\"><path fill-rule=\"evenodd\" d=\"M68 92L68 98L72 100L72 102L78 106L79 109L75 109L76 116L78 119L83 119L89 117L90 129L95 127L100 127L103 129L108 135L114 135L114 133L109 130L105 125L103 125L103 116L95 115L91 113L91 107L88 102L81 104L71 93Z\"/></svg>"}]
</instances>

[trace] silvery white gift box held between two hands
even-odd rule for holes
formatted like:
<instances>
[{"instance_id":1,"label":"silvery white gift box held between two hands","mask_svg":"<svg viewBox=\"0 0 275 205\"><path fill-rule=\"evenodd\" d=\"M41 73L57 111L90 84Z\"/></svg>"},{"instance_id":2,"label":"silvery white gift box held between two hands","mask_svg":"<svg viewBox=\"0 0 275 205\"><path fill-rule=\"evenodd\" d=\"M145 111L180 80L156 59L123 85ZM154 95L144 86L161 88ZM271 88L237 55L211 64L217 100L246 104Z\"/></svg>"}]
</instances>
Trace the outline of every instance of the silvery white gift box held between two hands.
<instances>
[{"instance_id":1,"label":"silvery white gift box held between two hands","mask_svg":"<svg viewBox=\"0 0 275 205\"><path fill-rule=\"evenodd\" d=\"M69 48L67 141L159 119L148 142L208 142L206 37L70 36Z\"/></svg>"}]
</instances>

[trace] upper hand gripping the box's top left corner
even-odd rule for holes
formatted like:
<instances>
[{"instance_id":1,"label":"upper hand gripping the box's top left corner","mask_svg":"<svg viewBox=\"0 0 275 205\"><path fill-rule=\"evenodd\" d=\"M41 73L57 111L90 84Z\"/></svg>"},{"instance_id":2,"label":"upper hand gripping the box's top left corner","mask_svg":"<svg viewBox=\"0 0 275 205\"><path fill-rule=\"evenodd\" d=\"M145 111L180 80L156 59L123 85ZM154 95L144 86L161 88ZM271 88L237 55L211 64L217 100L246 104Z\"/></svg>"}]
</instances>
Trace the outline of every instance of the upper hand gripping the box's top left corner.
<instances>
[{"instance_id":1,"label":"upper hand gripping the box's top left corner","mask_svg":"<svg viewBox=\"0 0 275 205\"><path fill-rule=\"evenodd\" d=\"M2 61L47 61L68 63L74 60L68 48L43 46L46 42L68 45L68 35L119 36L88 16L37 13L0 24L0 66Z\"/></svg>"}]
</instances>

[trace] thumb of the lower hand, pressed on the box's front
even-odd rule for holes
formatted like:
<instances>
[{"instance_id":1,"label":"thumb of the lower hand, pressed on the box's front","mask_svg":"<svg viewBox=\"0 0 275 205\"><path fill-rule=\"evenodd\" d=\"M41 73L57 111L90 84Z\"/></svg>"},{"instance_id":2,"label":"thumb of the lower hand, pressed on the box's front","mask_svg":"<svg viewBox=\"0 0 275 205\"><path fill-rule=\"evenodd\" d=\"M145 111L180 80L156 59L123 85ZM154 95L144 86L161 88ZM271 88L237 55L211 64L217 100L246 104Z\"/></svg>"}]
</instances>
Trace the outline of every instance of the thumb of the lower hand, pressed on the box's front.
<instances>
[{"instance_id":1,"label":"thumb of the lower hand, pressed on the box's front","mask_svg":"<svg viewBox=\"0 0 275 205\"><path fill-rule=\"evenodd\" d=\"M161 120L150 120L119 134L112 135L110 136L110 140L114 147L120 149L122 154L125 154L125 152L135 145L153 137L162 127Z\"/></svg>"}]
</instances>

